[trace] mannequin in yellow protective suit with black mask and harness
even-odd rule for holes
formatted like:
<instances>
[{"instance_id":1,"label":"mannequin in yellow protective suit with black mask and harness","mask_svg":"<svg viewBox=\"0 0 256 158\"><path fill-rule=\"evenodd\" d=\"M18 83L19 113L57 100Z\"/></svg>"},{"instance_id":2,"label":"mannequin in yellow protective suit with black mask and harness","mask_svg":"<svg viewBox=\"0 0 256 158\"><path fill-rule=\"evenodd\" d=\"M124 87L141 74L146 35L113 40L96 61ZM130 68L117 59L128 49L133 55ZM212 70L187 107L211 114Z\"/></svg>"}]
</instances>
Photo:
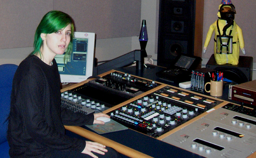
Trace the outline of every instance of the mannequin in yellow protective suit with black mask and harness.
<instances>
[{"instance_id":1,"label":"mannequin in yellow protective suit with black mask and harness","mask_svg":"<svg viewBox=\"0 0 256 158\"><path fill-rule=\"evenodd\" d=\"M219 5L219 10L217 13L218 20L216 20L210 26L210 29L207 33L207 37L204 44L204 53L206 53L207 51L207 46L209 45L209 42L214 31L214 57L216 63L219 65L238 65L240 53L239 47L241 48L243 54L246 54L242 29L234 21L235 14L236 10L231 0L222 0L221 4ZM229 38L228 41L232 42L224 43L221 45L221 48L219 48L219 44L217 45L216 41L221 41L221 37L226 39Z\"/></svg>"}]
</instances>

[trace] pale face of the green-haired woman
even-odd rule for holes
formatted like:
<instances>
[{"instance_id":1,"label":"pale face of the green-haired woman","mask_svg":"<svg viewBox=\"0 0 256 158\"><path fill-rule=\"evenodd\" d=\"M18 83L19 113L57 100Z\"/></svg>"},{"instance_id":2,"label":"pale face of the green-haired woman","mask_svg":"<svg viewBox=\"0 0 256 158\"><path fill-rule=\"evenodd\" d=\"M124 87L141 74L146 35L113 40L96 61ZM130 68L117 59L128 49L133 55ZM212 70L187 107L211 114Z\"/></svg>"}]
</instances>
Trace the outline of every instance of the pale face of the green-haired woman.
<instances>
[{"instance_id":1,"label":"pale face of the green-haired woman","mask_svg":"<svg viewBox=\"0 0 256 158\"><path fill-rule=\"evenodd\" d=\"M43 39L44 38L44 39ZM43 34L43 54L63 54L71 38L71 24L51 34Z\"/></svg>"}]
</instances>

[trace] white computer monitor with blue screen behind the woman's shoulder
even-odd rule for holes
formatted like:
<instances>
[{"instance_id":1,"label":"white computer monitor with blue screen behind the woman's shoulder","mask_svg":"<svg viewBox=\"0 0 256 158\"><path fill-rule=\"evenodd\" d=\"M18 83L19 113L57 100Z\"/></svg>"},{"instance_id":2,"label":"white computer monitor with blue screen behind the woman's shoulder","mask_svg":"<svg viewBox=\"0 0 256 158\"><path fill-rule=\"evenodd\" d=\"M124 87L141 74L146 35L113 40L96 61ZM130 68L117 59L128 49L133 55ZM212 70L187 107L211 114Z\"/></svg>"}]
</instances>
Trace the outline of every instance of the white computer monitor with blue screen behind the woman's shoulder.
<instances>
[{"instance_id":1,"label":"white computer monitor with blue screen behind the woman's shoulder","mask_svg":"<svg viewBox=\"0 0 256 158\"><path fill-rule=\"evenodd\" d=\"M92 76L94 45L95 33L74 33L70 58L64 62L64 54L55 56L62 83L78 83Z\"/></svg>"}]
</instances>

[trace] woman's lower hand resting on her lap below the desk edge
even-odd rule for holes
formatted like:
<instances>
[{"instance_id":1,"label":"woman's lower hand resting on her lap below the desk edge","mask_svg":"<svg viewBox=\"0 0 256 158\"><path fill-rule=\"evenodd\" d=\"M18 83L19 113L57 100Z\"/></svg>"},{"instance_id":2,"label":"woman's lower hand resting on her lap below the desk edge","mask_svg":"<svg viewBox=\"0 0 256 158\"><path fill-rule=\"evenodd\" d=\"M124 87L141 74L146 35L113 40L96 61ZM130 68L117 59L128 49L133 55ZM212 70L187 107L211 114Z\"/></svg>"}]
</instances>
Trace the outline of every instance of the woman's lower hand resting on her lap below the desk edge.
<instances>
[{"instance_id":1,"label":"woman's lower hand resting on her lap below the desk edge","mask_svg":"<svg viewBox=\"0 0 256 158\"><path fill-rule=\"evenodd\" d=\"M96 142L90 142L90 141L85 141L86 145L85 145L85 149L82 151L83 154L87 154L89 156L91 156L92 158L98 158L97 156L95 156L92 152L94 153L98 153L101 155L105 155L105 152L108 152L106 148L106 146L96 143Z\"/></svg>"}]
</instances>

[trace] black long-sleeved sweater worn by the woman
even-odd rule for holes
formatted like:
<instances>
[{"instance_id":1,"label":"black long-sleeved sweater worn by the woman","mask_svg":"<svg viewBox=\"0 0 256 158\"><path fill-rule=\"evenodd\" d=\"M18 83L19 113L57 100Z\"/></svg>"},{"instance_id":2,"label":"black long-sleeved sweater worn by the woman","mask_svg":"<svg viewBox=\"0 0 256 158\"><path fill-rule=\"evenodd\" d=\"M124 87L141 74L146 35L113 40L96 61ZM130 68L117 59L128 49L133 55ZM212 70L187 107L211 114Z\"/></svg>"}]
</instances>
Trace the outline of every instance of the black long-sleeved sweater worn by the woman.
<instances>
[{"instance_id":1,"label":"black long-sleeved sweater worn by the woman","mask_svg":"<svg viewBox=\"0 0 256 158\"><path fill-rule=\"evenodd\" d=\"M51 150L84 150L85 141L65 135L63 124L92 124L93 114L85 116L61 108L60 97L55 60L49 66L32 55L21 62L12 85L7 131L10 157L48 158Z\"/></svg>"}]
</instances>

